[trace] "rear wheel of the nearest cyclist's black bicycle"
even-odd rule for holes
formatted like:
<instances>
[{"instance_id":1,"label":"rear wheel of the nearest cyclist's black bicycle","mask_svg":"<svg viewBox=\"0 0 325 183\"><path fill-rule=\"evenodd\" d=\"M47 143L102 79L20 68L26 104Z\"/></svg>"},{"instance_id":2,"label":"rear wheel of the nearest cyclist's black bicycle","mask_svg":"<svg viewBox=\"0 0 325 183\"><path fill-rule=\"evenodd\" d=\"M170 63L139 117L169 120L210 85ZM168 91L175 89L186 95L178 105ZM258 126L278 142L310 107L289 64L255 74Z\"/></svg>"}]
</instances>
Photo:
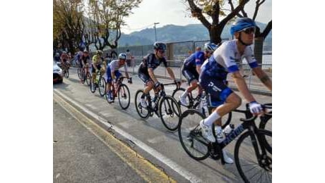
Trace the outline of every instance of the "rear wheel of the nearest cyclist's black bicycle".
<instances>
[{"instance_id":1,"label":"rear wheel of the nearest cyclist's black bicycle","mask_svg":"<svg viewBox=\"0 0 325 183\"><path fill-rule=\"evenodd\" d=\"M194 160L204 160L208 158L211 146L202 137L199 122L203 120L203 115L195 109L184 111L179 118L178 135L179 141L187 154Z\"/></svg>"}]
</instances>

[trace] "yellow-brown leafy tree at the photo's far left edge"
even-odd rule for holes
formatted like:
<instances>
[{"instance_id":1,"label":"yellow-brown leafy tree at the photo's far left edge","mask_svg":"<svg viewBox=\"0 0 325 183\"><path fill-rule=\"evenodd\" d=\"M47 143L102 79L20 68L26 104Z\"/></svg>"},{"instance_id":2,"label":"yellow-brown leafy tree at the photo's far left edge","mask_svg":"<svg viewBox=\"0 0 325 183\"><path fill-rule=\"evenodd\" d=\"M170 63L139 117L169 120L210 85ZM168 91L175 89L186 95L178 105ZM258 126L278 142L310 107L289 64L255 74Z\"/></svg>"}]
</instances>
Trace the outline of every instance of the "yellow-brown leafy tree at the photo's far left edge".
<instances>
[{"instance_id":1,"label":"yellow-brown leafy tree at the photo's far left edge","mask_svg":"<svg viewBox=\"0 0 325 183\"><path fill-rule=\"evenodd\" d=\"M81 42L84 31L83 1L53 1L54 45L68 47L74 53Z\"/></svg>"}]
</instances>

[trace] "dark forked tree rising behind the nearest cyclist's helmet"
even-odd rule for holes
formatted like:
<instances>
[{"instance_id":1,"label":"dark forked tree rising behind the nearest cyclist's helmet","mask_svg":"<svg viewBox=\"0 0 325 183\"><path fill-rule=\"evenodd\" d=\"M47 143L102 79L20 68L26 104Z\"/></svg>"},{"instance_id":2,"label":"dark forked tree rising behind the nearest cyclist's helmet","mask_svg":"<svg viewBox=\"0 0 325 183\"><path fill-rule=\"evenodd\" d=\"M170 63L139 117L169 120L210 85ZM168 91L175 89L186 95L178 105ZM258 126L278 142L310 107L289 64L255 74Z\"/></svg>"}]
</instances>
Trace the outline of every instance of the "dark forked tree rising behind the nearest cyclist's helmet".
<instances>
[{"instance_id":1,"label":"dark forked tree rising behind the nearest cyclist's helmet","mask_svg":"<svg viewBox=\"0 0 325 183\"><path fill-rule=\"evenodd\" d=\"M234 8L232 0L228 0L228 4L232 4L232 10L227 14L225 13L227 9L223 8L225 0L185 0L189 4L191 16L201 21L209 32L210 41L215 44L221 42L221 33L228 21L235 18L244 9L248 1L240 0L237 7ZM223 18L223 20L220 20L220 18ZM212 23L208 19L212 19Z\"/></svg>"}]
</instances>

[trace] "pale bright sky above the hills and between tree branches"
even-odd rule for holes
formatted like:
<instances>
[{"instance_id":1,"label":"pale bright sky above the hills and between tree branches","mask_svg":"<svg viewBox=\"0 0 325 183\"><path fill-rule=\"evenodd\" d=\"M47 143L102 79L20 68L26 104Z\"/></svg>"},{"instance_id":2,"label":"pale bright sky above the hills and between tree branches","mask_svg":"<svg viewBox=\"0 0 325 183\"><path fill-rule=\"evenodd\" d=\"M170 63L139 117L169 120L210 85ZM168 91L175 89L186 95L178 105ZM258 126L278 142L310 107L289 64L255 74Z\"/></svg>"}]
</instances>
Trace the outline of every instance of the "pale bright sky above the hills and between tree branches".
<instances>
[{"instance_id":1,"label":"pale bright sky above the hills and between tree branches","mask_svg":"<svg viewBox=\"0 0 325 183\"><path fill-rule=\"evenodd\" d=\"M244 10L252 17L256 1L249 1ZM138 8L132 10L128 18L125 18L126 26L122 32L129 34L153 27L153 23L159 23L156 27L164 25L189 25L201 24L196 18L189 18L186 13L184 0L143 0ZM186 16L187 15L187 16ZM272 18L272 0L266 0L259 8L256 21L268 23Z\"/></svg>"}]
</instances>

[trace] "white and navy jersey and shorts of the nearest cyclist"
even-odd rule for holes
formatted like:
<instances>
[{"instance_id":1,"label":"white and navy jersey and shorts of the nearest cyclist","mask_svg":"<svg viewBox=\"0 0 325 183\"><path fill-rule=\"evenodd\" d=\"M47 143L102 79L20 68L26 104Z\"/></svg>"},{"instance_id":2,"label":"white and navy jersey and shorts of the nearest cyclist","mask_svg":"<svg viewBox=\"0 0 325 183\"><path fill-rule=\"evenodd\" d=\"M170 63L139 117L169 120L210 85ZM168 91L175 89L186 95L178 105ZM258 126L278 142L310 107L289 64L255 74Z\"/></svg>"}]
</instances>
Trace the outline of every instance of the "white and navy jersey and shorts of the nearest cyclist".
<instances>
[{"instance_id":1,"label":"white and navy jersey and shorts of the nearest cyclist","mask_svg":"<svg viewBox=\"0 0 325 183\"><path fill-rule=\"evenodd\" d=\"M225 84L228 72L236 72L239 70L237 63L246 58L251 68L258 66L254 58L252 46L246 46L241 56L237 50L236 40L224 42L208 61L201 66L201 74L199 82L201 87L210 94L210 104L218 107L232 94L232 90Z\"/></svg>"}]
</instances>

